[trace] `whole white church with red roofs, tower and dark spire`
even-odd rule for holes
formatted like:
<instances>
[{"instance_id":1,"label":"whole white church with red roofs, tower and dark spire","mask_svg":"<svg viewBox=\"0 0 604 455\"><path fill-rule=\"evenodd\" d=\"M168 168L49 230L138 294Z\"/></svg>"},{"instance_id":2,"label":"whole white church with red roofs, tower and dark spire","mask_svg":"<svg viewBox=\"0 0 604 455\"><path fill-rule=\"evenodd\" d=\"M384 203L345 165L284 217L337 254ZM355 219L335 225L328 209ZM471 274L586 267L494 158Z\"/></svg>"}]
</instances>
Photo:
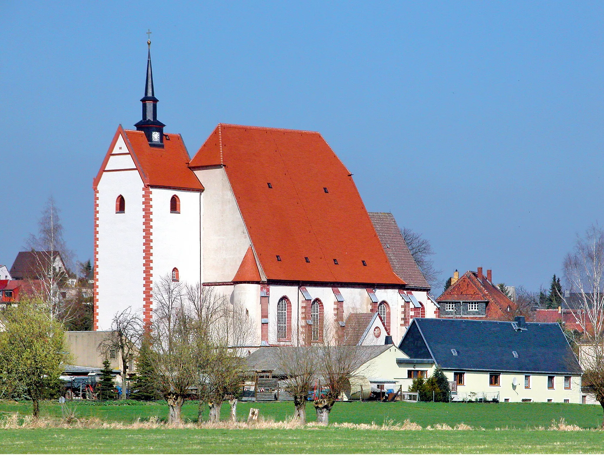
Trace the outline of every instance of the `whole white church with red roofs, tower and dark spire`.
<instances>
[{"instance_id":1,"label":"whole white church with red roofs, tower and dark spire","mask_svg":"<svg viewBox=\"0 0 604 455\"><path fill-rule=\"evenodd\" d=\"M245 308L251 346L320 342L327 323L399 343L438 317L393 216L367 212L320 133L220 123L191 158L158 120L147 44L142 119L93 182L95 330L129 306L149 323L168 275Z\"/></svg>"}]
</instances>

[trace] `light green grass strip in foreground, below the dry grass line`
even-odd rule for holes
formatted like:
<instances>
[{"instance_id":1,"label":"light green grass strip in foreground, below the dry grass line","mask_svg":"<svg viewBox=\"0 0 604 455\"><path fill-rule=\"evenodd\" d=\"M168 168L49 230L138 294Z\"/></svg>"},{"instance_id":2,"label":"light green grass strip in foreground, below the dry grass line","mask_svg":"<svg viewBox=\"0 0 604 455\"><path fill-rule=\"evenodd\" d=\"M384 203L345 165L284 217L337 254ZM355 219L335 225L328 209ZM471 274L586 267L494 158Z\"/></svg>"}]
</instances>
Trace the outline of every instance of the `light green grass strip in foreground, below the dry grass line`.
<instances>
[{"instance_id":1,"label":"light green grass strip in foreground, below the dry grass line","mask_svg":"<svg viewBox=\"0 0 604 455\"><path fill-rule=\"evenodd\" d=\"M1 453L602 453L600 431L3 430Z\"/></svg>"}]
</instances>

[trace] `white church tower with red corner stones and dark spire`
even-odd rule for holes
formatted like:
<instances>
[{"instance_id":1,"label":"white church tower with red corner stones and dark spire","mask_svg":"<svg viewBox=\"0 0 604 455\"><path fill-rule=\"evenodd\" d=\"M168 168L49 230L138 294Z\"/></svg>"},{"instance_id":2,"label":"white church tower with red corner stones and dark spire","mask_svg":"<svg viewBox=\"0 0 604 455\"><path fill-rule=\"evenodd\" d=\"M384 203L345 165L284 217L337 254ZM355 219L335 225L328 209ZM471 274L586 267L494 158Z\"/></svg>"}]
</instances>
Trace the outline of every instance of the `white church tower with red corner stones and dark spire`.
<instances>
[{"instance_id":1,"label":"white church tower with red corner stones and dark spire","mask_svg":"<svg viewBox=\"0 0 604 455\"><path fill-rule=\"evenodd\" d=\"M157 120L150 40L143 118L118 127L94 179L94 330L127 307L151 320L153 282L202 282L202 190L179 134ZM99 311L99 302L102 309Z\"/></svg>"}]
</instances>

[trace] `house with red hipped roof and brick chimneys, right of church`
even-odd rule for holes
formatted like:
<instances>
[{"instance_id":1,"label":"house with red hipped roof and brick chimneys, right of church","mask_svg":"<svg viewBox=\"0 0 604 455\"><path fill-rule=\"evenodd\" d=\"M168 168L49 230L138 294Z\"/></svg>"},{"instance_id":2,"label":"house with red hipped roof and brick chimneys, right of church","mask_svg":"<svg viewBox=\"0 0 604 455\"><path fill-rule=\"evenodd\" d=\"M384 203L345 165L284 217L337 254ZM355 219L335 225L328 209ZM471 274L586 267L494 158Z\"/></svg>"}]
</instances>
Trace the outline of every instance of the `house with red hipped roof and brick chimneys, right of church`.
<instances>
[{"instance_id":1,"label":"house with red hipped roof and brick chimneys, right of church","mask_svg":"<svg viewBox=\"0 0 604 455\"><path fill-rule=\"evenodd\" d=\"M483 268L467 271L459 277L457 271L451 286L437 298L441 318L513 320L516 304L492 282L492 273Z\"/></svg>"}]
</instances>

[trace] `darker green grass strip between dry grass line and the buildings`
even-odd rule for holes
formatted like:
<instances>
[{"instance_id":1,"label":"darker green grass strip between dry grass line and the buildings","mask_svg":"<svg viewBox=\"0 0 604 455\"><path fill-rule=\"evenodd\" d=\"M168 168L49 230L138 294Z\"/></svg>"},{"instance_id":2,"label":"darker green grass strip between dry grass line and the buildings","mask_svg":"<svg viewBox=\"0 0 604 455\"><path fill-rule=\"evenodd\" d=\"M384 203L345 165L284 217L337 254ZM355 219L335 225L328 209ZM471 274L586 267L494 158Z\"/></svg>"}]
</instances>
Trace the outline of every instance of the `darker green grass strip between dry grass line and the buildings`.
<instances>
[{"instance_id":1,"label":"darker green grass strip between dry grass line and the buildings","mask_svg":"<svg viewBox=\"0 0 604 455\"><path fill-rule=\"evenodd\" d=\"M74 403L77 403L74 401ZM165 404L141 405L76 405L79 418L98 417L104 421L131 423L137 418L146 420L151 416L165 419L168 407ZM253 404L260 409L260 415L283 421L294 412L292 402L260 402ZM237 415L245 419L251 403L239 403ZM222 418L228 419L228 403L222 407ZM0 413L18 412L27 415L31 412L29 402L0 401ZM306 406L308 420L315 420L312 403ZM42 416L61 416L61 407L56 402L45 402L41 406ZM197 404L185 404L183 407L185 419L197 420ZM208 410L204 407L204 416ZM353 424L382 424L392 419L411 422L426 427L434 424L454 426L463 422L472 427L516 428L525 430L534 427L548 427L552 420L566 419L568 424L579 425L582 428L597 428L602 424L602 407L599 405L565 404L565 403L380 403L380 402L349 402L336 403L329 416L330 422L350 422Z\"/></svg>"}]
</instances>

